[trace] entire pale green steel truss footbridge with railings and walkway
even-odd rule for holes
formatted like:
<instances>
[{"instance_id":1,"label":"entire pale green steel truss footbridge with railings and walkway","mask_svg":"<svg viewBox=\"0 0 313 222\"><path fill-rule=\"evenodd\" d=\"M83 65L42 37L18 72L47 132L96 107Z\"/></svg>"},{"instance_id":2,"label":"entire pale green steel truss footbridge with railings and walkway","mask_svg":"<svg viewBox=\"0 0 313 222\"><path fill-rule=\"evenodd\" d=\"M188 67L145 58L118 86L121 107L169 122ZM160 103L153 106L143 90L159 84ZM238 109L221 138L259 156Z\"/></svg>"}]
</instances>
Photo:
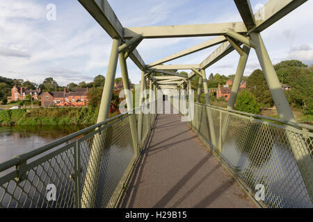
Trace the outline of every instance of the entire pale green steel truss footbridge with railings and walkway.
<instances>
[{"instance_id":1,"label":"entire pale green steel truss footbridge with railings and walkway","mask_svg":"<svg viewBox=\"0 0 313 222\"><path fill-rule=\"evenodd\" d=\"M1 163L0 207L313 207L313 127L296 122L261 35L305 0L270 0L255 14L234 0L242 22L154 27L122 26L106 0L79 2L113 39L97 123ZM217 37L150 64L136 51L147 38L200 36ZM166 64L216 45L199 64ZM251 49L280 119L234 110ZM205 70L232 51L230 100L214 107ZM141 71L138 108L126 93L126 112L109 119L118 62L129 89L128 58ZM168 101L158 89L173 92Z\"/></svg>"}]
</instances>

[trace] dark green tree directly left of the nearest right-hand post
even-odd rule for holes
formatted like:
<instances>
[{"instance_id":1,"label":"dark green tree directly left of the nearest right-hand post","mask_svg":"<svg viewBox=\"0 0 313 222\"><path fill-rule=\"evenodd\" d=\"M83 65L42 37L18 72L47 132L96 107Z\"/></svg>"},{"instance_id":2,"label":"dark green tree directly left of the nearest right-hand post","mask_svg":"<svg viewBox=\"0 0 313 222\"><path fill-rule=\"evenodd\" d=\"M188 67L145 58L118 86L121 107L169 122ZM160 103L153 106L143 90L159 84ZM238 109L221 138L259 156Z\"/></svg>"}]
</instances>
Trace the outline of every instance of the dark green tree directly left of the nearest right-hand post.
<instances>
[{"instance_id":1,"label":"dark green tree directly left of the nearest right-hand post","mask_svg":"<svg viewBox=\"0 0 313 222\"><path fill-rule=\"evenodd\" d=\"M273 106L274 101L268 89L264 74L261 69L255 69L247 78L247 89L255 96L262 106Z\"/></svg>"}]
</instances>

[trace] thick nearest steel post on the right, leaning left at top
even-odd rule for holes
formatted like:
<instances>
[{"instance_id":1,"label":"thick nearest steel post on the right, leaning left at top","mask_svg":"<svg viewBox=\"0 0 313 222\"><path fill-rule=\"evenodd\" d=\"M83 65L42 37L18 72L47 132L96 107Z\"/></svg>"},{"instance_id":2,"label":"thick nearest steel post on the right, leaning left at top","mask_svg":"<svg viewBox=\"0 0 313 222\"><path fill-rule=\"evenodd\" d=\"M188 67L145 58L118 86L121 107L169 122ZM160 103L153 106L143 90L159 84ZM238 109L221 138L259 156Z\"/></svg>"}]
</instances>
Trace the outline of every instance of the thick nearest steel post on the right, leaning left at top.
<instances>
[{"instance_id":1,"label":"thick nearest steel post on the right, leaning left at top","mask_svg":"<svg viewBox=\"0 0 313 222\"><path fill-rule=\"evenodd\" d=\"M284 91L280 87L280 81L278 80L271 58L268 56L261 35L259 33L250 33L250 38L255 43L255 52L257 53L257 58L264 72L266 83L271 91L280 118L287 121L296 121L286 96L284 96ZM285 132L291 146L291 151L294 154L301 176L307 187L308 194L313 201L313 162L309 148L305 144L304 139L297 140L292 133L287 130Z\"/></svg>"}]
</instances>

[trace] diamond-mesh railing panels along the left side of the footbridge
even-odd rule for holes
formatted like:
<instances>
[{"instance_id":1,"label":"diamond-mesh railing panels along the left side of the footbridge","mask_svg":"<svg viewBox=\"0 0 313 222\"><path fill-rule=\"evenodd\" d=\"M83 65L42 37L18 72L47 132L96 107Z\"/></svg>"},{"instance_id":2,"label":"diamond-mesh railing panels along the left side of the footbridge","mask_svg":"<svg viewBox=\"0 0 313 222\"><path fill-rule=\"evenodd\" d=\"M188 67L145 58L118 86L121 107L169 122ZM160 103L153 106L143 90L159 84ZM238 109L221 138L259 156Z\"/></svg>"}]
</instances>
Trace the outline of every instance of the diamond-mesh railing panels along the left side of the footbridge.
<instances>
[{"instance_id":1,"label":"diamond-mesh railing panels along the left side of the footbridge","mask_svg":"<svg viewBox=\"0 0 313 222\"><path fill-rule=\"evenodd\" d=\"M156 117L143 114L138 138L138 115L120 114L1 163L0 207L115 207Z\"/></svg>"}]
</instances>

